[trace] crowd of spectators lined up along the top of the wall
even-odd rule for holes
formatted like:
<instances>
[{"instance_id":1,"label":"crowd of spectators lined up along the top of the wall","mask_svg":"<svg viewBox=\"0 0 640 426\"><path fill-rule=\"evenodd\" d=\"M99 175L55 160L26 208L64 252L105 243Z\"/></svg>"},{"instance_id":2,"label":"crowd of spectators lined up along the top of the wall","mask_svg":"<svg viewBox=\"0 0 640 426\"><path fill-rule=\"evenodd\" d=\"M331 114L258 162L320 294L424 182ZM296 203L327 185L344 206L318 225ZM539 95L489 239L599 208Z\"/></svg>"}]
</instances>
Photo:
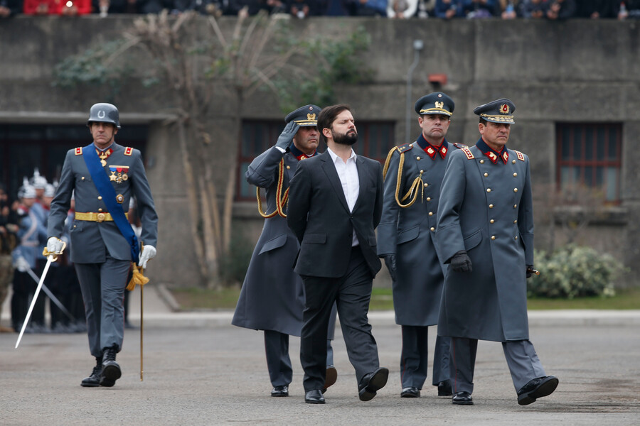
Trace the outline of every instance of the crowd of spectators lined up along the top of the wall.
<instances>
[{"instance_id":1,"label":"crowd of spectators lined up along the top of the wall","mask_svg":"<svg viewBox=\"0 0 640 426\"><path fill-rule=\"evenodd\" d=\"M640 0L0 0L0 18L26 15L78 16L87 13L171 13L198 11L213 16L287 13L307 16L388 18L639 18Z\"/></svg>"}]
</instances>

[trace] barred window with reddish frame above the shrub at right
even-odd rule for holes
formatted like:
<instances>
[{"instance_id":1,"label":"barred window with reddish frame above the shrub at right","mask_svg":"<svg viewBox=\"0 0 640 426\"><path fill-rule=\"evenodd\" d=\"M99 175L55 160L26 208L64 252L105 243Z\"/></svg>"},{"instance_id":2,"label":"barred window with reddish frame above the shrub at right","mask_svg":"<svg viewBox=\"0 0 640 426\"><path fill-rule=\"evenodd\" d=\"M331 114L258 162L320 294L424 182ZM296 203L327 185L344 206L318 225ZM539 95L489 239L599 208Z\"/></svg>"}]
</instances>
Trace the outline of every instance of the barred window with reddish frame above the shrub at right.
<instances>
[{"instance_id":1,"label":"barred window with reddish frame above the shrub at right","mask_svg":"<svg viewBox=\"0 0 640 426\"><path fill-rule=\"evenodd\" d=\"M622 124L560 123L556 141L556 182L568 200L587 188L605 202L619 202Z\"/></svg>"}]
</instances>

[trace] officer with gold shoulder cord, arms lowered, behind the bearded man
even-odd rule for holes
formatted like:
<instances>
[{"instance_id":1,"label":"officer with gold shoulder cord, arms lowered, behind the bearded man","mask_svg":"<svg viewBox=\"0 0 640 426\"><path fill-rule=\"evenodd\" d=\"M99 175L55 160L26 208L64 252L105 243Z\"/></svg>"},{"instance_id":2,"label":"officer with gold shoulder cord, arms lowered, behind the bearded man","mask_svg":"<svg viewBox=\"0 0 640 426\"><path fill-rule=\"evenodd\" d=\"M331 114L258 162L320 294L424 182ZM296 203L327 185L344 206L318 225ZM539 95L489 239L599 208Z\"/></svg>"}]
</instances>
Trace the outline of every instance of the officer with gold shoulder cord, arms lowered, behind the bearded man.
<instances>
[{"instance_id":1,"label":"officer with gold shoulder cord, arms lowered, behind the bearded man","mask_svg":"<svg viewBox=\"0 0 640 426\"><path fill-rule=\"evenodd\" d=\"M452 151L447 141L454 111L447 94L427 94L415 102L422 133L414 143L393 148L385 167L385 199L378 225L378 256L393 279L395 322L402 326L400 379L403 398L417 398L427 378L427 331L438 322L443 266L435 246L435 226L444 168ZM451 395L449 337L435 342L432 384Z\"/></svg>"}]
</instances>

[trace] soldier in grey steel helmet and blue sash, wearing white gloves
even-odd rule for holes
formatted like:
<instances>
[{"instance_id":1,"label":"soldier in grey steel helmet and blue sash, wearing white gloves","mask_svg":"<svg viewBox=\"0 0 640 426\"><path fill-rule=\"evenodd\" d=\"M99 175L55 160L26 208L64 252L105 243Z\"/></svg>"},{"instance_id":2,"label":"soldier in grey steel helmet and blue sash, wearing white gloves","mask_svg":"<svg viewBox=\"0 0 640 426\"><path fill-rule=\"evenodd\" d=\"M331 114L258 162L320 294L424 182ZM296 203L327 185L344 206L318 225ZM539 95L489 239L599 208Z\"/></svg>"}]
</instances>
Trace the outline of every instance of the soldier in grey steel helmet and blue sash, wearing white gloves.
<instances>
[{"instance_id":1,"label":"soldier in grey steel helmet and blue sash, wearing white gloves","mask_svg":"<svg viewBox=\"0 0 640 426\"><path fill-rule=\"evenodd\" d=\"M139 253L139 266L156 254L158 217L146 179L142 155L133 148L120 146L114 137L120 129L119 113L112 104L95 104L90 109L87 121L93 143L68 151L60 175L60 184L55 192L48 222L47 250L50 253L62 249L65 219L69 211L72 194L75 192L75 220L70 231L71 261L80 280L82 299L85 302L89 348L95 356L96 365L81 386L114 386L121 376L115 358L122 349L124 337L124 288L133 253ZM90 150L95 150L95 155ZM115 209L107 209L107 202L99 192L100 185L94 181L85 156L98 158L97 172L105 173L106 185L115 192ZM96 175L97 178L102 177ZM108 193L103 190L103 193ZM114 222L116 214L129 209L129 199L135 196L142 222L139 244L127 241ZM122 207L121 207L122 206ZM123 212L117 212L122 208ZM113 213L113 214L112 214ZM124 214L122 215L124 217ZM128 225L128 222L127 222ZM129 225L129 230L131 226Z\"/></svg>"}]
</instances>

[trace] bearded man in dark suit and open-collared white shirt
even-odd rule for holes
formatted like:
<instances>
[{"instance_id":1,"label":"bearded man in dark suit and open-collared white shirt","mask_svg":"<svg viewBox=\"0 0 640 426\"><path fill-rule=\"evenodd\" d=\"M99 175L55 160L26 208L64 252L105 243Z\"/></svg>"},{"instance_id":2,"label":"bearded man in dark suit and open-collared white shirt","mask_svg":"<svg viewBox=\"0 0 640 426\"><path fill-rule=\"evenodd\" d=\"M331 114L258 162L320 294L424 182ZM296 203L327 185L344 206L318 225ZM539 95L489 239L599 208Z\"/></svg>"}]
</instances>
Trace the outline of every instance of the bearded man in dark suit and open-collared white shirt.
<instances>
[{"instance_id":1,"label":"bearded man in dark suit and open-collared white shirt","mask_svg":"<svg viewBox=\"0 0 640 426\"><path fill-rule=\"evenodd\" d=\"M287 224L300 241L294 270L306 295L300 341L304 400L324 404L326 332L336 302L358 395L368 401L389 375L380 368L367 317L380 271L374 229L383 207L382 166L353 152L358 132L347 105L323 109L318 129L328 149L298 164L287 209Z\"/></svg>"}]
</instances>

